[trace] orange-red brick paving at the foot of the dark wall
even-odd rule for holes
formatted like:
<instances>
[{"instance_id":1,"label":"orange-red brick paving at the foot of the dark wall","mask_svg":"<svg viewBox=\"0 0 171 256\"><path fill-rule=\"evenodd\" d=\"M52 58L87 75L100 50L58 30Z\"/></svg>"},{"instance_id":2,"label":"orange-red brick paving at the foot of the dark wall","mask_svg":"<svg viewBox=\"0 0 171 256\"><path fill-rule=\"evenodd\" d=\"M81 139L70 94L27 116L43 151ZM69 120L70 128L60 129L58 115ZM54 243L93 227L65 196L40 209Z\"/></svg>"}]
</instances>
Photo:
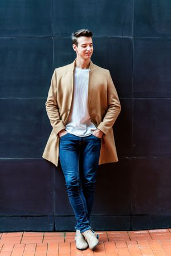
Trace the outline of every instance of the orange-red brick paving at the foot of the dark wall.
<instances>
[{"instance_id":1,"label":"orange-red brick paving at the foot of the dark wall","mask_svg":"<svg viewBox=\"0 0 171 256\"><path fill-rule=\"evenodd\" d=\"M97 233L94 251L76 249L74 232L0 233L0 256L171 256L171 229Z\"/></svg>"}]
</instances>

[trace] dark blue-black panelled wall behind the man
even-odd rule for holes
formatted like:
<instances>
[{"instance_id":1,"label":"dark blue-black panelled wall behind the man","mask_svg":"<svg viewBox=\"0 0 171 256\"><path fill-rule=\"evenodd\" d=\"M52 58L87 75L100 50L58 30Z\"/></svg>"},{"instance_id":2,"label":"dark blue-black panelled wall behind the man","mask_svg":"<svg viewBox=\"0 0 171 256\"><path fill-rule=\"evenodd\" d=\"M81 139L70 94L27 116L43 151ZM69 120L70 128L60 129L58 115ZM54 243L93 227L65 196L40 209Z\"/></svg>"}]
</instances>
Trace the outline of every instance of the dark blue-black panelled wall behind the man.
<instances>
[{"instance_id":1,"label":"dark blue-black panelled wall behind the man","mask_svg":"<svg viewBox=\"0 0 171 256\"><path fill-rule=\"evenodd\" d=\"M92 227L171 226L170 0L2 0L0 231L74 230L62 170L42 159L54 68L73 62L72 31L93 31L122 110L119 162L99 167Z\"/></svg>"}]
</instances>

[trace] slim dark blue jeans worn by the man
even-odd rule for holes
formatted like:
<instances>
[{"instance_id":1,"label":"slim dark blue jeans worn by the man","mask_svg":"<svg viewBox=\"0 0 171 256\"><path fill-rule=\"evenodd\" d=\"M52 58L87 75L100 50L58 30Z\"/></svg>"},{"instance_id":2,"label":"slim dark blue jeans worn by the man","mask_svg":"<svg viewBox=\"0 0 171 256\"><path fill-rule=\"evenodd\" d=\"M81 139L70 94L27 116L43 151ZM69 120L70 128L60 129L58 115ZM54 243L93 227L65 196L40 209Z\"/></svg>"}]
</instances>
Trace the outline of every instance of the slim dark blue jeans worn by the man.
<instances>
[{"instance_id":1,"label":"slim dark blue jeans worn by the man","mask_svg":"<svg viewBox=\"0 0 171 256\"><path fill-rule=\"evenodd\" d=\"M60 137L59 157L66 180L68 197L76 218L75 229L91 229L89 217L93 205L101 139L93 135L78 137L67 133Z\"/></svg>"}]
</instances>

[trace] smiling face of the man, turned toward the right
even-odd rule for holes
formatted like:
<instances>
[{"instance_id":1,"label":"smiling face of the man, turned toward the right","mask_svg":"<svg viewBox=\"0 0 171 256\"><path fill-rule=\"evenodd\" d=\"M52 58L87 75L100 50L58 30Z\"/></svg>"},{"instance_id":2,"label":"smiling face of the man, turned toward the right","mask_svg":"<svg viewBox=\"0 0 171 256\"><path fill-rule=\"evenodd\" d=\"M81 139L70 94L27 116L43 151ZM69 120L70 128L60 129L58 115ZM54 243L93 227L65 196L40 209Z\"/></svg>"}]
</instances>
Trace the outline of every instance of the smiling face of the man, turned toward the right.
<instances>
[{"instance_id":1,"label":"smiling face of the man, turned toward the right","mask_svg":"<svg viewBox=\"0 0 171 256\"><path fill-rule=\"evenodd\" d=\"M73 49L76 51L78 57L84 60L91 58L93 53L92 38L87 36L80 36L78 38L78 46L73 44Z\"/></svg>"}]
</instances>

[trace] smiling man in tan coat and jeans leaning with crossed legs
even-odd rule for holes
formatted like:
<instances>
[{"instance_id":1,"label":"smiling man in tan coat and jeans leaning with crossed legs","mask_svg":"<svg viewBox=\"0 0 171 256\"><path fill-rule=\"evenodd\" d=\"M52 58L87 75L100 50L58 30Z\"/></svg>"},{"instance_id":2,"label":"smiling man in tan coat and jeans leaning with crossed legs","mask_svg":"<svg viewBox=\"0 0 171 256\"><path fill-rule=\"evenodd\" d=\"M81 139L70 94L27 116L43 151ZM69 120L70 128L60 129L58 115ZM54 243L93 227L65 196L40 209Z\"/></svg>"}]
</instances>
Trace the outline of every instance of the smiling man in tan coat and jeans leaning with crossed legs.
<instances>
[{"instance_id":1,"label":"smiling man in tan coat and jeans leaning with crossed legs","mask_svg":"<svg viewBox=\"0 0 171 256\"><path fill-rule=\"evenodd\" d=\"M58 166L66 180L76 217L76 247L93 250L99 243L89 217L99 164L116 162L112 126L120 101L108 70L91 61L92 32L72 33L73 63L55 68L46 101L52 132L43 157Z\"/></svg>"}]
</instances>

